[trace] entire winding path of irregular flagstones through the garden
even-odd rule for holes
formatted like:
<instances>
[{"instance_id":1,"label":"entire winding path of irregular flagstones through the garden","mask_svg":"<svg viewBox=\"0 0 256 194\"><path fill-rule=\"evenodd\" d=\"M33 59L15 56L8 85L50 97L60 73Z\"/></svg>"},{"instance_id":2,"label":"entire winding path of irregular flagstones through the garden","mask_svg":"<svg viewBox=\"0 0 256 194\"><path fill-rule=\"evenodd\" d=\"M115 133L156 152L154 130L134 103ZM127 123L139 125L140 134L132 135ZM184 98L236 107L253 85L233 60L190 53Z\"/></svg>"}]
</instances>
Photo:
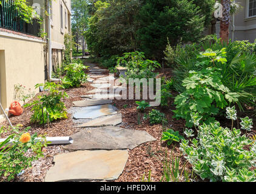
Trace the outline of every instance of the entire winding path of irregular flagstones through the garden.
<instances>
[{"instance_id":1,"label":"entire winding path of irregular flagstones through the garden","mask_svg":"<svg viewBox=\"0 0 256 194\"><path fill-rule=\"evenodd\" d=\"M64 146L73 152L54 157L55 165L47 172L46 182L113 181L123 173L128 159L127 149L156 141L145 131L118 127L122 115L113 107L112 99L121 95L108 91L121 91L122 88L112 85L116 79L113 74L106 76L102 74L106 70L95 64L86 65L90 72L88 80L95 89L81 96L83 101L73 102L70 109L73 122L81 131L72 135L73 144Z\"/></svg>"}]
</instances>

